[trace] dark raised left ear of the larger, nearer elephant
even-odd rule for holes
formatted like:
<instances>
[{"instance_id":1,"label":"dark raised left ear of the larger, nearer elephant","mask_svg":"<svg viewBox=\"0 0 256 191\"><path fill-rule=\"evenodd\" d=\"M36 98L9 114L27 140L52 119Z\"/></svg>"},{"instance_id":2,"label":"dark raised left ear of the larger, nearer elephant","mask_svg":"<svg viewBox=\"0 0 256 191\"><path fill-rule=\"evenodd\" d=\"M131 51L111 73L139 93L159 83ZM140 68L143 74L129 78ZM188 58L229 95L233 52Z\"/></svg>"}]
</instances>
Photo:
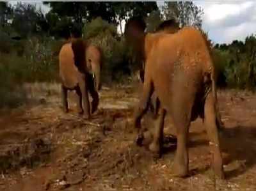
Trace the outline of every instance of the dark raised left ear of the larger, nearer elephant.
<instances>
[{"instance_id":1,"label":"dark raised left ear of the larger, nearer elephant","mask_svg":"<svg viewBox=\"0 0 256 191\"><path fill-rule=\"evenodd\" d=\"M125 40L133 49L141 51L144 45L146 24L141 17L132 17L125 24Z\"/></svg>"}]
</instances>

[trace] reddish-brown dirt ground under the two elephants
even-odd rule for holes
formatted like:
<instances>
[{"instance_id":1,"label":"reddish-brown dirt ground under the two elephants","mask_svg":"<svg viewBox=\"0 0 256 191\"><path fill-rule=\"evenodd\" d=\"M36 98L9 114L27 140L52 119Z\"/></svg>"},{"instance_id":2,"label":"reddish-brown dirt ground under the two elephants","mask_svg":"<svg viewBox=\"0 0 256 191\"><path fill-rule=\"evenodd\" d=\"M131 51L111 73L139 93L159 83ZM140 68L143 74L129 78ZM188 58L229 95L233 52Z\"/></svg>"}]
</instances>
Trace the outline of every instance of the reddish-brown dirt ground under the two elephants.
<instances>
[{"instance_id":1,"label":"reddish-brown dirt ground under the two elephants","mask_svg":"<svg viewBox=\"0 0 256 191\"><path fill-rule=\"evenodd\" d=\"M137 87L137 88L136 88ZM172 176L175 143L166 119L160 159L134 144L132 111L138 86L104 87L99 111L90 121L61 111L58 84L27 87L26 105L0 116L0 190L256 190L256 96L218 93L221 149L227 180L211 169L211 154L200 119L189 130L189 177ZM152 121L147 123L152 125Z\"/></svg>"}]
</instances>

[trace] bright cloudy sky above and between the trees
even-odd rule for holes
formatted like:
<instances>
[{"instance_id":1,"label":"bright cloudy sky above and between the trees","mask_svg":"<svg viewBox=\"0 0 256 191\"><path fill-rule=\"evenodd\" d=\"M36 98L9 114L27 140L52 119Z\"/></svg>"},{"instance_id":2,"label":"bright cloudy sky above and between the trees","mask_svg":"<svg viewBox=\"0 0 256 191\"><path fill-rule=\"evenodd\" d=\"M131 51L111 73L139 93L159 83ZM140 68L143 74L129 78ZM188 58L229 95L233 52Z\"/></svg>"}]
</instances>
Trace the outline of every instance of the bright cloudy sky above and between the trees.
<instances>
[{"instance_id":1,"label":"bright cloudy sky above and between the trees","mask_svg":"<svg viewBox=\"0 0 256 191\"><path fill-rule=\"evenodd\" d=\"M17 1L12 1L16 4ZM40 1L33 3L37 8L42 6L43 13L49 7ZM157 1L158 6L163 1ZM244 40L250 34L256 34L256 1L223 0L223 1L194 1L204 10L203 29L209 34L214 43L231 43L233 40ZM122 27L124 29L124 27Z\"/></svg>"}]
</instances>

